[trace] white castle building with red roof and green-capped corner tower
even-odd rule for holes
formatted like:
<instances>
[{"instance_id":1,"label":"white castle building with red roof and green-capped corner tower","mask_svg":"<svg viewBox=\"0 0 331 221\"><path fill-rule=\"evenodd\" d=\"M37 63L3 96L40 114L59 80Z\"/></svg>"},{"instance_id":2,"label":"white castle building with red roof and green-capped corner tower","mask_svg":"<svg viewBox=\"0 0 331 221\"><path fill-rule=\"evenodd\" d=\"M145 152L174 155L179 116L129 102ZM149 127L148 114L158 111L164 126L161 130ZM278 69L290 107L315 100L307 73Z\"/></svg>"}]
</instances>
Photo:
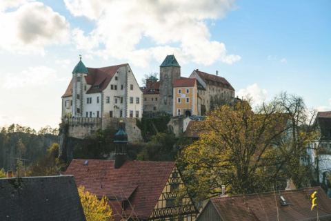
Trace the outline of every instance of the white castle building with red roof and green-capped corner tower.
<instances>
[{"instance_id":1,"label":"white castle building with red roof and green-capped corner tower","mask_svg":"<svg viewBox=\"0 0 331 221\"><path fill-rule=\"evenodd\" d=\"M142 97L129 64L86 68L80 58L62 96L62 119L140 118Z\"/></svg>"}]
</instances>

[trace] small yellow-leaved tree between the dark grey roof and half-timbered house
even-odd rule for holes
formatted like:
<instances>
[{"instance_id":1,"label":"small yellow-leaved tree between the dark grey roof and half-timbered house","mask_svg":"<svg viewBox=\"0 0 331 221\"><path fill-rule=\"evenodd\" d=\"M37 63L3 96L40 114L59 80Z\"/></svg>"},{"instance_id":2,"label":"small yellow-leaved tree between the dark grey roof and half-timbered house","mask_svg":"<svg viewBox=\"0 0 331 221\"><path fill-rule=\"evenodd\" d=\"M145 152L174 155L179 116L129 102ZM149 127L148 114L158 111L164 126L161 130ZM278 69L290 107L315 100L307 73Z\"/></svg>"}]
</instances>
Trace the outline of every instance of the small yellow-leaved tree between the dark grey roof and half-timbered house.
<instances>
[{"instance_id":1,"label":"small yellow-leaved tree between the dark grey roof and half-timbered house","mask_svg":"<svg viewBox=\"0 0 331 221\"><path fill-rule=\"evenodd\" d=\"M100 200L96 195L85 191L83 186L78 188L79 197L81 198L81 205L86 217L86 221L111 221L112 209L108 204L106 196Z\"/></svg>"}]
</instances>

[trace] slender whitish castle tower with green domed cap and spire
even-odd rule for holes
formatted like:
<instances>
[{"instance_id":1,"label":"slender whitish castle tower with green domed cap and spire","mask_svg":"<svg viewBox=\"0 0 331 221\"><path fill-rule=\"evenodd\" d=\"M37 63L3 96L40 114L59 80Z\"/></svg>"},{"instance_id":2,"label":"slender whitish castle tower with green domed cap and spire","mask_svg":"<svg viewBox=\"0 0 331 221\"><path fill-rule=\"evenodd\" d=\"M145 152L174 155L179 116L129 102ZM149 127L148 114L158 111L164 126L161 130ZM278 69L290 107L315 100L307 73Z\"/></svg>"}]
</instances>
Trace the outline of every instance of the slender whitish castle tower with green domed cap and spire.
<instances>
[{"instance_id":1,"label":"slender whitish castle tower with green domed cap and spire","mask_svg":"<svg viewBox=\"0 0 331 221\"><path fill-rule=\"evenodd\" d=\"M81 55L79 55L79 62L72 70L72 117L83 116L83 79L88 75L88 68L81 61Z\"/></svg>"}]
</instances>

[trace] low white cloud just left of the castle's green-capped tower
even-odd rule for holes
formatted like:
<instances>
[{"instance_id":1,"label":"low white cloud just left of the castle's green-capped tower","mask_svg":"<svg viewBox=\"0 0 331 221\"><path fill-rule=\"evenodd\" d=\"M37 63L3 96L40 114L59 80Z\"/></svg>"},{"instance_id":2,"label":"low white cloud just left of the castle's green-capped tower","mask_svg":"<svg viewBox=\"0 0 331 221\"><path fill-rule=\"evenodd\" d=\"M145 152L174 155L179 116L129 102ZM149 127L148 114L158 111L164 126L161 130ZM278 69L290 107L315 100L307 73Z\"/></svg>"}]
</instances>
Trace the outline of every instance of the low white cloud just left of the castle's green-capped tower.
<instances>
[{"instance_id":1,"label":"low white cloud just left of the castle's green-capped tower","mask_svg":"<svg viewBox=\"0 0 331 221\"><path fill-rule=\"evenodd\" d=\"M55 70L46 66L30 67L21 73L7 73L3 78L3 88L25 88L45 86L57 79Z\"/></svg>"}]
</instances>

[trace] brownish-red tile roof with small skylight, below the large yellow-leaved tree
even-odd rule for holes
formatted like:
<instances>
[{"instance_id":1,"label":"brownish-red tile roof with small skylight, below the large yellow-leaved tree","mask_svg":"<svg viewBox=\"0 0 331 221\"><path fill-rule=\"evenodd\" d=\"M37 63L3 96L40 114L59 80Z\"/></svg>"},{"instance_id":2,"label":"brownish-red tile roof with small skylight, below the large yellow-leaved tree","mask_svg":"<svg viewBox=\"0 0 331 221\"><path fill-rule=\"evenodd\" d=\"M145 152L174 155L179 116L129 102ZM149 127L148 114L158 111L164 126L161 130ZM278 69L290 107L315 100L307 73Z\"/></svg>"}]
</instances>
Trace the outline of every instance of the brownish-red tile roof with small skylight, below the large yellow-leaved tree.
<instances>
[{"instance_id":1,"label":"brownish-red tile roof with small skylight, below the large yellow-leaved tree","mask_svg":"<svg viewBox=\"0 0 331 221\"><path fill-rule=\"evenodd\" d=\"M331 220L331 199L321 187L212 198L210 202L222 221L276 221L277 208L279 220L316 220L316 209L310 211L310 195L316 190L319 217L321 220ZM287 206L281 205L281 195L288 203Z\"/></svg>"}]
</instances>

